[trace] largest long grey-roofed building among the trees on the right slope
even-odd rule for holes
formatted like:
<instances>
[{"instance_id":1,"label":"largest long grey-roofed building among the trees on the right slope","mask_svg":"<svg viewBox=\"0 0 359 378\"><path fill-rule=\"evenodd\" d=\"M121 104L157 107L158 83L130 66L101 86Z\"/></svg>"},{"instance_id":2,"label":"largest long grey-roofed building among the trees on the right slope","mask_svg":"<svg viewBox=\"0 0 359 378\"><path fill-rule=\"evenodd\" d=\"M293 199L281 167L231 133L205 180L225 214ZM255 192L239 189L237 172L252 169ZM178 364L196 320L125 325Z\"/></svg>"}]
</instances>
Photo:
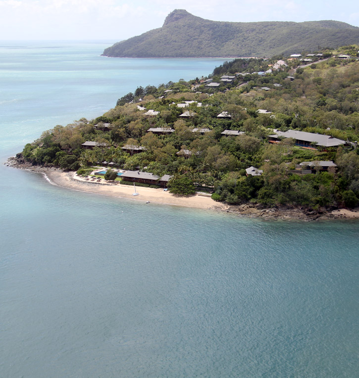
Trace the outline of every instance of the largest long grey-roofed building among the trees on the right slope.
<instances>
[{"instance_id":1,"label":"largest long grey-roofed building among the trees on the right slope","mask_svg":"<svg viewBox=\"0 0 359 378\"><path fill-rule=\"evenodd\" d=\"M288 131L279 131L274 130L275 134L269 135L270 142L277 142L279 137L283 138L293 138L296 141L296 145L301 147L310 147L312 143L315 143L316 146L322 147L338 147L341 144L345 144L345 140L334 138L330 135L323 134L314 134L313 132L306 131L297 131L297 130L288 130Z\"/></svg>"}]
</instances>

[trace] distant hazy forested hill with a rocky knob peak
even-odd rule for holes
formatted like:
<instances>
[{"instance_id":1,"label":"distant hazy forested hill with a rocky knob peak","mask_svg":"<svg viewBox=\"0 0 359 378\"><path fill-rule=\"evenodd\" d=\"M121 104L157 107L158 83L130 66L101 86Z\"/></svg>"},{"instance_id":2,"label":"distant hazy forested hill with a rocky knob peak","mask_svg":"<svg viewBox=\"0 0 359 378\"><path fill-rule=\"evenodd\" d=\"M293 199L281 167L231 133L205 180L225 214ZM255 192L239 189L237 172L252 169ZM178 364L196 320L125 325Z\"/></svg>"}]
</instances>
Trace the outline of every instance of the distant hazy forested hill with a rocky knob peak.
<instances>
[{"instance_id":1,"label":"distant hazy forested hill with a rocky knob peak","mask_svg":"<svg viewBox=\"0 0 359 378\"><path fill-rule=\"evenodd\" d=\"M339 21L222 22L175 9L161 28L115 43L107 57L263 57L359 42L359 28Z\"/></svg>"}]
</instances>

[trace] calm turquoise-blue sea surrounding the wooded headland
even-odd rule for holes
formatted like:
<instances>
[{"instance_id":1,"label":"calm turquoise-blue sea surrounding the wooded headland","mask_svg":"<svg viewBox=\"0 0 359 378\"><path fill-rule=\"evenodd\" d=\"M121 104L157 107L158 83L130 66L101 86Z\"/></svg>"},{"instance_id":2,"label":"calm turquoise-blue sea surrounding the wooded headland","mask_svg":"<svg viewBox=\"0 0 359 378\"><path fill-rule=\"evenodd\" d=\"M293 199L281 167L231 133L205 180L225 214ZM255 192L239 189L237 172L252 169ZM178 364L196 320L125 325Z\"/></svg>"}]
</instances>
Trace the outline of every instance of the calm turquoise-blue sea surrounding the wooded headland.
<instances>
[{"instance_id":1,"label":"calm turquoise-blue sea surrounding the wooded headland","mask_svg":"<svg viewBox=\"0 0 359 378\"><path fill-rule=\"evenodd\" d=\"M223 60L0 43L1 162ZM0 377L358 377L357 222L239 218L0 166Z\"/></svg>"}]
</instances>

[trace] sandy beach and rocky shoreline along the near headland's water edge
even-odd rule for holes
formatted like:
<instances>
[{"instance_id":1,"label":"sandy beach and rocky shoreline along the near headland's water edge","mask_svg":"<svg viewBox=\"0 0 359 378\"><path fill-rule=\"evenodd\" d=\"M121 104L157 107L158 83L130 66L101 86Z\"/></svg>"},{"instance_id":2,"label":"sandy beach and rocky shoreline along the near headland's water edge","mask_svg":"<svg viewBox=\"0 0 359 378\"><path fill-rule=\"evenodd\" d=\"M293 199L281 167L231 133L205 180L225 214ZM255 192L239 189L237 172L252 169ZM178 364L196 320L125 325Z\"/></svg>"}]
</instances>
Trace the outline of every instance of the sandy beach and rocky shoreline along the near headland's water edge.
<instances>
[{"instance_id":1,"label":"sandy beach and rocky shoreline along the near headland's water edge","mask_svg":"<svg viewBox=\"0 0 359 378\"><path fill-rule=\"evenodd\" d=\"M16 158L9 158L4 163L6 166L18 169L28 170L30 172L41 173L51 185L73 189L93 194L109 195L117 198L133 199L146 203L174 205L198 208L203 210L215 210L221 212L232 213L247 218L261 218L265 220L297 220L297 221L320 221L320 220L358 220L359 208L349 210L345 208L326 210L326 209L310 209L304 207L274 207L264 208L258 204L246 203L242 205L229 205L222 202L214 201L210 196L196 193L190 196L180 196L164 191L163 189L153 189L145 187L137 187L140 193L133 196L133 187L131 185L121 185L119 182L101 183L86 181L82 177L78 177L76 172L64 172L57 168L47 168L32 166L31 164L19 164Z\"/></svg>"}]
</instances>

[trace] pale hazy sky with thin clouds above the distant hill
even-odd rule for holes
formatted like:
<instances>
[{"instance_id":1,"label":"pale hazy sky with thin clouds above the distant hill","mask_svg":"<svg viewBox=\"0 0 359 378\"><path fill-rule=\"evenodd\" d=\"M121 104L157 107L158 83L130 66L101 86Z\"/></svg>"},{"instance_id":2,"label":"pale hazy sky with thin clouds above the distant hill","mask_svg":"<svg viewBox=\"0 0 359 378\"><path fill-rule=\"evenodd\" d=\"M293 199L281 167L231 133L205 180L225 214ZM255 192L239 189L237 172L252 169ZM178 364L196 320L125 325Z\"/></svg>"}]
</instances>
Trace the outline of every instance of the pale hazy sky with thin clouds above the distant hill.
<instances>
[{"instance_id":1,"label":"pale hazy sky with thin clouds above the distant hill","mask_svg":"<svg viewBox=\"0 0 359 378\"><path fill-rule=\"evenodd\" d=\"M186 9L216 21L337 20L359 26L355 0L0 0L0 39L121 40Z\"/></svg>"}]
</instances>

